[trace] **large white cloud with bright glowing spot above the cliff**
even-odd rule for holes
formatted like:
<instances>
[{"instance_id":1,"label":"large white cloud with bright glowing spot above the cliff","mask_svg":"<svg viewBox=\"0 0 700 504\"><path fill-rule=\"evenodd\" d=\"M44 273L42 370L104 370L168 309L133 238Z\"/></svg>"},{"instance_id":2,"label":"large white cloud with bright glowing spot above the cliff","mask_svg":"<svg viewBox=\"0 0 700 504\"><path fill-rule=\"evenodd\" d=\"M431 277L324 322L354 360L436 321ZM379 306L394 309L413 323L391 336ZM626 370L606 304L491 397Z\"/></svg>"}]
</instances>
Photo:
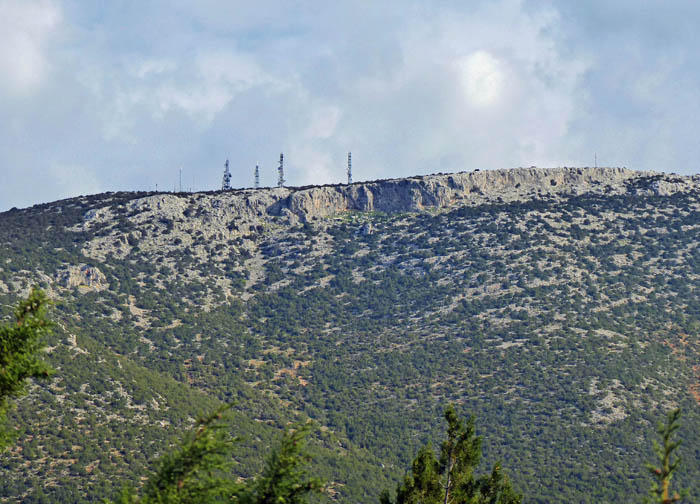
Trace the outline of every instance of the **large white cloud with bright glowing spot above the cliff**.
<instances>
[{"instance_id":1,"label":"large white cloud with bright glowing spot above the cliff","mask_svg":"<svg viewBox=\"0 0 700 504\"><path fill-rule=\"evenodd\" d=\"M358 149L376 176L570 161L590 65L562 53L560 22L511 0L416 13L396 29L400 67L343 97L339 134L376 151Z\"/></svg>"}]
</instances>

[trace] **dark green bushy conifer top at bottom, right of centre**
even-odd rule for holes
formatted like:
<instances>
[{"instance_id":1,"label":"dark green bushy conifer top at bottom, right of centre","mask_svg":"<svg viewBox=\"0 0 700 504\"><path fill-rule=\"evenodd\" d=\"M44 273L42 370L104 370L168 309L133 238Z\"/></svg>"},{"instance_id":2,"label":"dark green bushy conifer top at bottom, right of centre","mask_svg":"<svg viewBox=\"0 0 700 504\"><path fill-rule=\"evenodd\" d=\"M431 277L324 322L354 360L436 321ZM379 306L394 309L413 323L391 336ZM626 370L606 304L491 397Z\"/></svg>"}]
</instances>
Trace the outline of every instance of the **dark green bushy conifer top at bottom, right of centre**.
<instances>
[{"instance_id":1,"label":"dark green bushy conifer top at bottom, right of centre","mask_svg":"<svg viewBox=\"0 0 700 504\"><path fill-rule=\"evenodd\" d=\"M413 460L411 472L399 483L396 504L519 504L516 494L495 464L490 475L476 477L481 459L481 437L476 435L474 417L466 422L454 406L445 410L447 439L440 446L440 459L430 444L421 448ZM388 492L381 504L391 504Z\"/></svg>"}]
</instances>

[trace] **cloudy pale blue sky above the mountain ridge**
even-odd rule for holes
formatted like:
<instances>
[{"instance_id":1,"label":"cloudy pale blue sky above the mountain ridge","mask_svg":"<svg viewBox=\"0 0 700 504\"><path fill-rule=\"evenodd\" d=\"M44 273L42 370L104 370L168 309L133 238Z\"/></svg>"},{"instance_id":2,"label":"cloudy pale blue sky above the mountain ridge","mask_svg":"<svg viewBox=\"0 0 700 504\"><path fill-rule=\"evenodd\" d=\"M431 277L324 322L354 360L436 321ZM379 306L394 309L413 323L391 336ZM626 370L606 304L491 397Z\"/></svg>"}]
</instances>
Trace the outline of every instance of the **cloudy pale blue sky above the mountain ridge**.
<instances>
[{"instance_id":1,"label":"cloudy pale blue sky above the mountain ridge","mask_svg":"<svg viewBox=\"0 0 700 504\"><path fill-rule=\"evenodd\" d=\"M700 2L0 0L0 211L518 166L692 174ZM180 176L180 173L182 174ZM180 180L181 186L180 186Z\"/></svg>"}]
</instances>

